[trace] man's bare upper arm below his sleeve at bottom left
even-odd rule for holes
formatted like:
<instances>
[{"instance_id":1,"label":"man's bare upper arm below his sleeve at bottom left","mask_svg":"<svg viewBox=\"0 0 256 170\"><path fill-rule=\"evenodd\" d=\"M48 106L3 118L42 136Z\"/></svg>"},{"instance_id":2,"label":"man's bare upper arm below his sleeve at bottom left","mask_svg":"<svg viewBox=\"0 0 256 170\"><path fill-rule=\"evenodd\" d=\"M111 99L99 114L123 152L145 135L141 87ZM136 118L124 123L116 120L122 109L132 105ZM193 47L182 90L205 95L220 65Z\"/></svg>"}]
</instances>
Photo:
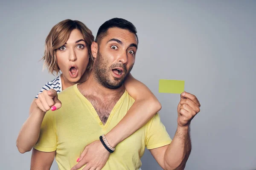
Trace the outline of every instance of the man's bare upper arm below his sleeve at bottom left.
<instances>
[{"instance_id":1,"label":"man's bare upper arm below his sleeve at bottom left","mask_svg":"<svg viewBox=\"0 0 256 170\"><path fill-rule=\"evenodd\" d=\"M55 158L55 152L41 152L33 148L30 170L49 170Z\"/></svg>"}]
</instances>

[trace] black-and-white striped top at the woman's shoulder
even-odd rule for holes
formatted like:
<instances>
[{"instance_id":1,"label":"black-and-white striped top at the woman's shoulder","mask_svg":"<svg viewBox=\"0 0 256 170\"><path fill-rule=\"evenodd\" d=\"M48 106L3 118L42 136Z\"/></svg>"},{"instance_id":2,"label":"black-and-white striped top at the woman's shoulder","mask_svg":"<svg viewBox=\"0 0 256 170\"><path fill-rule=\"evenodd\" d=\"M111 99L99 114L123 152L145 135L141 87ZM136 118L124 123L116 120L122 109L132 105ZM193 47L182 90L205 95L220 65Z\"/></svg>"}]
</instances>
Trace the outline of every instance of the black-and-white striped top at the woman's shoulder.
<instances>
[{"instance_id":1,"label":"black-and-white striped top at the woman's shoulder","mask_svg":"<svg viewBox=\"0 0 256 170\"><path fill-rule=\"evenodd\" d=\"M49 91L51 88L57 91L57 93L62 91L61 76L58 76L52 81L47 82L38 94L41 94L44 90ZM38 94L35 96L36 99L38 98Z\"/></svg>"}]
</instances>

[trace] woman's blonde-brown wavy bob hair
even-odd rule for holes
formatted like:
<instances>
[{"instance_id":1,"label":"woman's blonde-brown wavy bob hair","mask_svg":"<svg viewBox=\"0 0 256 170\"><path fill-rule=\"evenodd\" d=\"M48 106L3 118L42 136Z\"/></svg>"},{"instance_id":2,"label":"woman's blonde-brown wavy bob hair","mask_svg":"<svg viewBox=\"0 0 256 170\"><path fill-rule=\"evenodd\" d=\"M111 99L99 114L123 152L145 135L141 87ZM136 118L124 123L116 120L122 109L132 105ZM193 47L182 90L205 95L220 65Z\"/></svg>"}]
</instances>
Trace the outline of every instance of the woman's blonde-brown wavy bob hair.
<instances>
[{"instance_id":1,"label":"woman's blonde-brown wavy bob hair","mask_svg":"<svg viewBox=\"0 0 256 170\"><path fill-rule=\"evenodd\" d=\"M82 22L78 20L63 20L52 27L45 40L45 50L44 50L44 67L48 68L49 73L56 75L60 71L57 65L56 50L63 46L68 38L70 37L71 31L78 29L84 37L87 49L89 51L89 63L87 69L91 69L93 66L93 57L91 53L91 44L94 41L94 36L92 31L87 28Z\"/></svg>"}]
</instances>

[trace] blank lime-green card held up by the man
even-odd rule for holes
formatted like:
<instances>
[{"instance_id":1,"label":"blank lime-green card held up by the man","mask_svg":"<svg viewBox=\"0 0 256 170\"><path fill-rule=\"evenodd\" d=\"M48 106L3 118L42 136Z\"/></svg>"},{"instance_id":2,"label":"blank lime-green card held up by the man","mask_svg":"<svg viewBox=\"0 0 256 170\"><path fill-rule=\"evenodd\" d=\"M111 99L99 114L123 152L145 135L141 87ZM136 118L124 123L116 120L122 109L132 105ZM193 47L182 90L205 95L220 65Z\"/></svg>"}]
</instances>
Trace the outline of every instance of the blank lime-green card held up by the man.
<instances>
[{"instance_id":1,"label":"blank lime-green card held up by the man","mask_svg":"<svg viewBox=\"0 0 256 170\"><path fill-rule=\"evenodd\" d=\"M159 80L159 93L181 94L184 91L185 81L183 80Z\"/></svg>"}]
</instances>

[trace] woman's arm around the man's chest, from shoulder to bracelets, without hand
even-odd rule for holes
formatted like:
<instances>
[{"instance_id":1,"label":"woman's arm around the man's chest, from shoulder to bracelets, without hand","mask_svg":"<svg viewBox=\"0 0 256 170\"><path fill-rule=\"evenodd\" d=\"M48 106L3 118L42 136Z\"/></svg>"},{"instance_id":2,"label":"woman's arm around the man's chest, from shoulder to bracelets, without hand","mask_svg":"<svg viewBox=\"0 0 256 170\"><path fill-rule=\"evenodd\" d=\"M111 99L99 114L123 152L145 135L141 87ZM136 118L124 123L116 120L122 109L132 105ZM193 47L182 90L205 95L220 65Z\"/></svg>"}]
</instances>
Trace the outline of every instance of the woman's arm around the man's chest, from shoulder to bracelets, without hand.
<instances>
[{"instance_id":1,"label":"woman's arm around the man's chest, from shoulder to bracelets, without hand","mask_svg":"<svg viewBox=\"0 0 256 170\"><path fill-rule=\"evenodd\" d=\"M112 147L116 147L117 144L140 129L162 107L148 87L132 77L131 74L128 75L124 85L135 102L122 120L106 134Z\"/></svg>"}]
</instances>

